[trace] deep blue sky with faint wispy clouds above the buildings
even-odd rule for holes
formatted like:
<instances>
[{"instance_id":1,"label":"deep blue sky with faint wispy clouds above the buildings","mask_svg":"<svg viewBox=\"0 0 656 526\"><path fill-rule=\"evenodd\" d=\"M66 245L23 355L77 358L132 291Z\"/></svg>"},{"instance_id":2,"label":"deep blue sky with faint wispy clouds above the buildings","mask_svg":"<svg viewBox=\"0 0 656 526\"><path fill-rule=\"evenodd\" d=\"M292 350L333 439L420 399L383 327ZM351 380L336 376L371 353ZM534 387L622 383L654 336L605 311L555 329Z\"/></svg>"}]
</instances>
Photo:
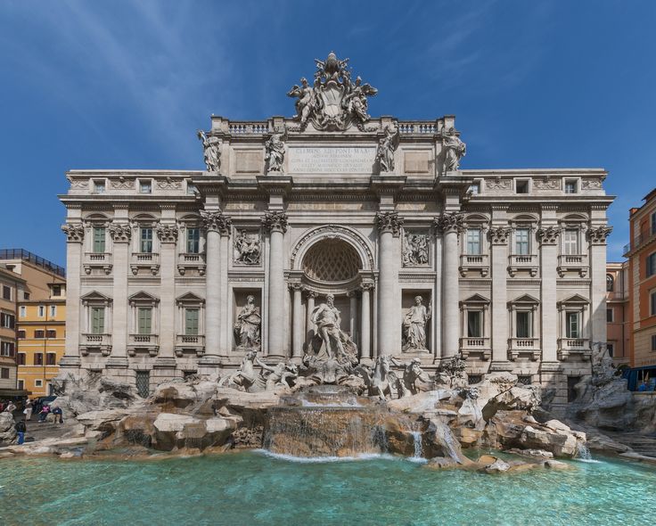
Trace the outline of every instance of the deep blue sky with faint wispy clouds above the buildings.
<instances>
[{"instance_id":1,"label":"deep blue sky with faint wispy clouds above the buildings","mask_svg":"<svg viewBox=\"0 0 656 526\"><path fill-rule=\"evenodd\" d=\"M290 116L334 50L373 115L455 114L463 168L606 168L609 259L656 177L656 2L3 0L0 247L65 263L70 168L202 168L209 115Z\"/></svg>"}]
</instances>

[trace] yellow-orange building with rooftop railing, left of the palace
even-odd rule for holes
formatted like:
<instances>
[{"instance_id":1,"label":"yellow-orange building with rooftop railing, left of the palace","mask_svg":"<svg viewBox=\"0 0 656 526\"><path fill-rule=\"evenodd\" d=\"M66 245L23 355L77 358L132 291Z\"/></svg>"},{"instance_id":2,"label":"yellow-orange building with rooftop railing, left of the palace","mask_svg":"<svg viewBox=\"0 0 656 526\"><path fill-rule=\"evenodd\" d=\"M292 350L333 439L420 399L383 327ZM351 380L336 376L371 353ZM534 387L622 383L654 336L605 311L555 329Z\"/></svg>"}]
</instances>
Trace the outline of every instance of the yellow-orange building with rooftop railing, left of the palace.
<instances>
[{"instance_id":1,"label":"yellow-orange building with rooftop railing, left of the palace","mask_svg":"<svg viewBox=\"0 0 656 526\"><path fill-rule=\"evenodd\" d=\"M0 251L0 270L21 281L12 296L15 344L13 389L39 397L50 394L59 372L66 325L66 273L22 249Z\"/></svg>"}]
</instances>

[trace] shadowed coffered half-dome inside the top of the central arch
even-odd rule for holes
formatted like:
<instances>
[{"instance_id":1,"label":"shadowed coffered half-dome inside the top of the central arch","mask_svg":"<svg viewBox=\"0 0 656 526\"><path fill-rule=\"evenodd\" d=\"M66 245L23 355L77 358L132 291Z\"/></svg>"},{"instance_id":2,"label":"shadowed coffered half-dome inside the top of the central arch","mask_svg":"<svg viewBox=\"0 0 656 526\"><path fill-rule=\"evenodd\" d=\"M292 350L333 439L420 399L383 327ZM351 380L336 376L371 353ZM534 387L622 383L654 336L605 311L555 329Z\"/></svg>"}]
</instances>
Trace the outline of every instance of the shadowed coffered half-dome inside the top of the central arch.
<instances>
[{"instance_id":1,"label":"shadowed coffered half-dome inside the top of the central arch","mask_svg":"<svg viewBox=\"0 0 656 526\"><path fill-rule=\"evenodd\" d=\"M306 252L303 273L322 284L344 284L357 278L362 267L360 256L351 244L341 239L324 239Z\"/></svg>"}]
</instances>

